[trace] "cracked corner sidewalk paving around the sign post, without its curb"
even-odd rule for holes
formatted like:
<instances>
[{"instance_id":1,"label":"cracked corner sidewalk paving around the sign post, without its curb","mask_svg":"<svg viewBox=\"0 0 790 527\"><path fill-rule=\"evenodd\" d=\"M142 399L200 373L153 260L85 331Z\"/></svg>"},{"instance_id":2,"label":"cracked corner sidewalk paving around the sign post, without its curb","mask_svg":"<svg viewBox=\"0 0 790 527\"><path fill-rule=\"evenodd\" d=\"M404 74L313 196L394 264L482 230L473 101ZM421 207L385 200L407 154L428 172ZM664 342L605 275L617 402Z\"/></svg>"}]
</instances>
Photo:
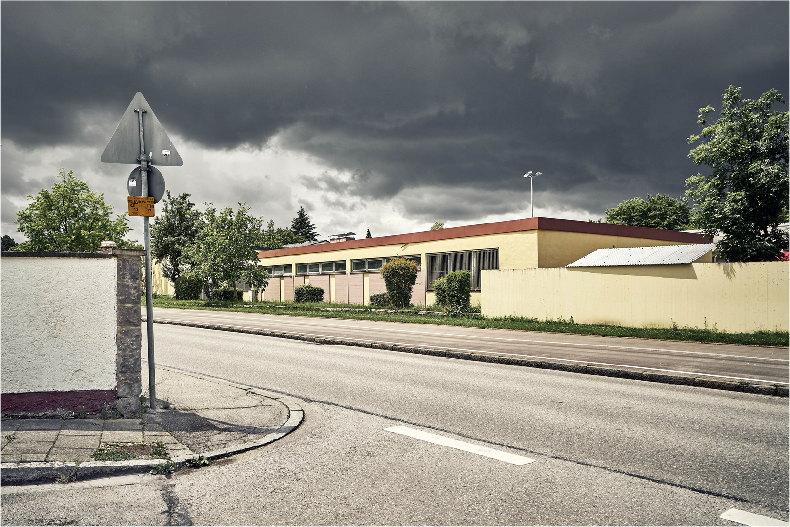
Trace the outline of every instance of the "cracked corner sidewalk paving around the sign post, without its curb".
<instances>
[{"instance_id":1,"label":"cracked corner sidewalk paving around the sign post, without its curb","mask_svg":"<svg viewBox=\"0 0 790 527\"><path fill-rule=\"evenodd\" d=\"M135 419L3 419L0 461L92 461L103 442L161 441L171 457L205 454L263 439L289 416L270 397L167 368L157 367L156 390L164 394L156 407L167 409Z\"/></svg>"}]
</instances>

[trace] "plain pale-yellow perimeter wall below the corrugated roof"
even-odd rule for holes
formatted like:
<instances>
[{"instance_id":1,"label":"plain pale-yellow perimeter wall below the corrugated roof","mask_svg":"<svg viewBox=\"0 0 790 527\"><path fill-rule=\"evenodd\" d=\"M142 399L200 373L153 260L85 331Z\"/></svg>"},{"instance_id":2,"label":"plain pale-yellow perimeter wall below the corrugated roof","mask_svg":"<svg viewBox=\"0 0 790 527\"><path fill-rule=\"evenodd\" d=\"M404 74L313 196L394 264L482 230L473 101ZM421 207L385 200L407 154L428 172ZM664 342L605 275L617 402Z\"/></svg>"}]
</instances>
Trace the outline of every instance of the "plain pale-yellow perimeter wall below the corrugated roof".
<instances>
[{"instance_id":1,"label":"plain pale-yellow perimeter wall below the corrugated roof","mask_svg":"<svg viewBox=\"0 0 790 527\"><path fill-rule=\"evenodd\" d=\"M788 330L788 262L482 272L483 315L749 333Z\"/></svg>"}]
</instances>

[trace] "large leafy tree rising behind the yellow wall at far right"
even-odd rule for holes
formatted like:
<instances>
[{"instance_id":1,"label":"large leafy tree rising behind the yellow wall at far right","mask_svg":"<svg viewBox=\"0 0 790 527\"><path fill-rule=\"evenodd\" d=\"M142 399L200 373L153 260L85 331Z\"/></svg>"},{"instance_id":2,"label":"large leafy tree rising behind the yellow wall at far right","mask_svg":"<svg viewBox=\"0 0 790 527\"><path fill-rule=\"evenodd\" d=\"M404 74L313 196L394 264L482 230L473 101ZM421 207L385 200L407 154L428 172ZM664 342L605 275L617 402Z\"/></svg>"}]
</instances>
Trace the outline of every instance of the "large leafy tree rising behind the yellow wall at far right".
<instances>
[{"instance_id":1,"label":"large leafy tree rising behind the yellow wall at far right","mask_svg":"<svg viewBox=\"0 0 790 527\"><path fill-rule=\"evenodd\" d=\"M788 220L788 112L776 90L758 100L744 99L741 88L724 92L717 121L709 125L713 107L700 108L701 141L689 157L713 169L686 180L687 198L697 202L694 222L706 235L724 235L717 250L728 260L776 260L787 250L788 234L778 228Z\"/></svg>"}]
</instances>

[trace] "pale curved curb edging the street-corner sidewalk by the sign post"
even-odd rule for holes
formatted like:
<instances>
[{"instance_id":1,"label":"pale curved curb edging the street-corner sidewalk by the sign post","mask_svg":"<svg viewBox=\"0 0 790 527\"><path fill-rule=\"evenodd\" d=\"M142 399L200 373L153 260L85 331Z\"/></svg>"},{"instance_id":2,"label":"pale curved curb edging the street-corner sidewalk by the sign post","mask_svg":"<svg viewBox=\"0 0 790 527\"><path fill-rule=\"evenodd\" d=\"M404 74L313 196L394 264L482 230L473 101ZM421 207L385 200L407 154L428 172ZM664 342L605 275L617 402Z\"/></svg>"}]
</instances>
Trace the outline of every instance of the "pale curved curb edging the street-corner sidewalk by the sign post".
<instances>
[{"instance_id":1,"label":"pale curved curb edging the street-corner sidewalk by the sign post","mask_svg":"<svg viewBox=\"0 0 790 527\"><path fill-rule=\"evenodd\" d=\"M202 325L205 326L205 325ZM226 326L227 327L227 326ZM207 327L205 329L215 329ZM225 331L232 331L232 329L225 329ZM257 332L253 332L257 333ZM276 431L265 435L256 441L245 442L239 446L231 446L222 450L212 450L201 454L188 454L185 456L172 457L170 461L175 463L182 463L188 459L195 459L201 456L209 460L219 459L220 457L228 457L234 454L241 454L247 450L254 450L261 446L268 445L277 439L282 439L286 435L295 431L304 419L304 410L301 406L296 404L292 397L286 397L280 393L267 392L265 390L258 390L257 388L250 388L236 382L221 381L220 379L188 373L186 371L173 370L167 367L160 367L159 369L166 371L176 371L182 375L189 375L190 377L201 378L210 382L217 382L226 386L232 386L245 390L250 393L255 393L262 397L269 397L282 403L288 408L288 420L283 425L277 428ZM100 477L110 476L125 476L127 474L139 474L141 472L149 472L151 465L157 463L164 463L167 459L130 459L128 461L82 461L77 469L77 476L81 480L92 480ZM59 476L68 476L74 472L73 461L32 461L32 462L6 462L0 464L2 471L0 471L0 485L31 485L52 483L57 480Z\"/></svg>"}]
</instances>

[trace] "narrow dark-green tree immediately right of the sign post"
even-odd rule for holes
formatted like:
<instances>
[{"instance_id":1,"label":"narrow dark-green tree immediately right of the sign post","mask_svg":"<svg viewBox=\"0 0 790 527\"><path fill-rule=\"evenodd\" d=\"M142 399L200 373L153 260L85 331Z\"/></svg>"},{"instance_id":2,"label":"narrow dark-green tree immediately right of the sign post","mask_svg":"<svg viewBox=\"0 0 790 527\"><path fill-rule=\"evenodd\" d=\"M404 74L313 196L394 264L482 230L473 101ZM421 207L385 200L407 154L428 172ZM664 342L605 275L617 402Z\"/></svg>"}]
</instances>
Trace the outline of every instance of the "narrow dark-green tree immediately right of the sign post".
<instances>
[{"instance_id":1,"label":"narrow dark-green tree immediately right of the sign post","mask_svg":"<svg viewBox=\"0 0 790 527\"><path fill-rule=\"evenodd\" d=\"M185 192L173 198L167 190L162 212L156 216L151 228L151 256L156 263L162 264L162 274L173 284L183 273L179 258L184 248L194 243L203 227L201 213L190 201L190 195Z\"/></svg>"}]
</instances>

